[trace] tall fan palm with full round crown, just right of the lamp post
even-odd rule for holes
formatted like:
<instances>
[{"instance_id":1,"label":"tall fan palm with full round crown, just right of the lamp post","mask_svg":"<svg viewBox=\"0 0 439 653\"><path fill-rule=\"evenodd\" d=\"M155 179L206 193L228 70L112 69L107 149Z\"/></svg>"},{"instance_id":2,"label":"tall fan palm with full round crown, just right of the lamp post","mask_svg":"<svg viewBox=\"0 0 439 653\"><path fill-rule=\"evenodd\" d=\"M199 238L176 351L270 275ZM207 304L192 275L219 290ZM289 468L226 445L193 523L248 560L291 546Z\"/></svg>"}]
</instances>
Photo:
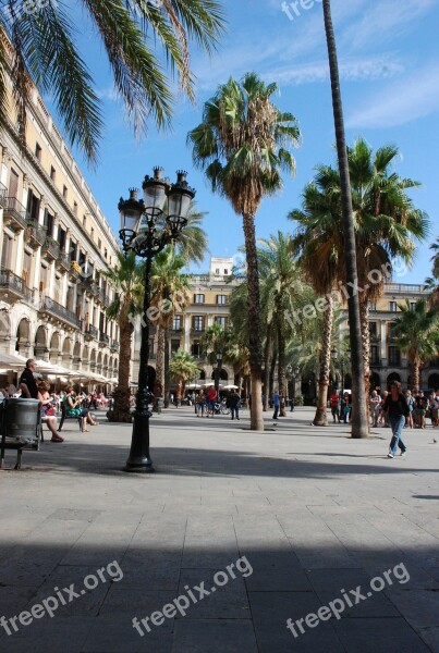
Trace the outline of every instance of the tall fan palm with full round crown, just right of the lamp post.
<instances>
[{"instance_id":1,"label":"tall fan palm with full round crown, just right of the lamp post","mask_svg":"<svg viewBox=\"0 0 439 653\"><path fill-rule=\"evenodd\" d=\"M212 189L225 196L243 219L248 283L252 370L251 428L264 430L261 411L261 322L255 215L266 195L282 186L281 170L294 171L286 149L296 145L300 130L291 113L271 101L276 84L255 73L241 83L230 78L205 103L203 122L188 134L193 160L205 170Z\"/></svg>"}]
</instances>

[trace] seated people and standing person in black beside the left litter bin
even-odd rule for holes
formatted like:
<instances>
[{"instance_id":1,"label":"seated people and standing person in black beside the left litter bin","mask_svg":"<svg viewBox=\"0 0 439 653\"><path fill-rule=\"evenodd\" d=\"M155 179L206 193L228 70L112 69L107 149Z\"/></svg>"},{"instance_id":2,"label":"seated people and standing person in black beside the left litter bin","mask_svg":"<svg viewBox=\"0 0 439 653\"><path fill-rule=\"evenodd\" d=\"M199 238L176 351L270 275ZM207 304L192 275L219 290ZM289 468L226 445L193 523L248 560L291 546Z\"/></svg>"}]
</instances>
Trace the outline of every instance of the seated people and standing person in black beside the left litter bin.
<instances>
[{"instance_id":1,"label":"seated people and standing person in black beside the left litter bin","mask_svg":"<svg viewBox=\"0 0 439 653\"><path fill-rule=\"evenodd\" d=\"M69 385L65 391L61 391L59 395L50 394L50 385L46 381L37 383L36 369L36 361L29 358L20 377L19 389L15 389L16 392L12 396L19 395L27 399L38 399L41 403L41 418L51 431L51 442L64 442L64 438L58 432L57 418L57 411L60 410L62 403L65 403L65 415L68 417L81 418L83 432L88 431L87 424L97 426L98 422L93 417L88 406L93 401L90 401L90 395L86 393L76 395L72 385ZM9 386L8 390L11 390L11 387Z\"/></svg>"}]
</instances>

